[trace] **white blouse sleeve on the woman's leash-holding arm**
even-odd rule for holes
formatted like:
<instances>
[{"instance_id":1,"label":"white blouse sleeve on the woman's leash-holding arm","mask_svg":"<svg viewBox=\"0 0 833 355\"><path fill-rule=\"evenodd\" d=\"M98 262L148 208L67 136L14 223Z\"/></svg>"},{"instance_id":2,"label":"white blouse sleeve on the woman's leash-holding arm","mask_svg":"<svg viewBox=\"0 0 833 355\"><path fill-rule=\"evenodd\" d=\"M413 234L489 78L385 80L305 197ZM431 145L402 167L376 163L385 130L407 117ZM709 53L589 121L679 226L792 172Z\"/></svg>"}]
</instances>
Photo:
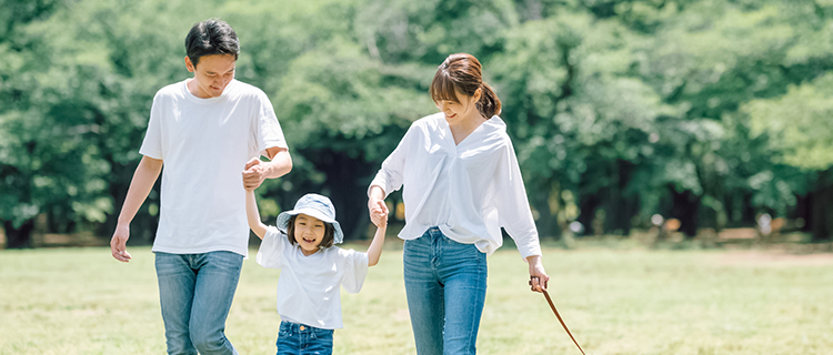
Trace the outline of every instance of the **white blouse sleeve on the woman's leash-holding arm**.
<instances>
[{"instance_id":1,"label":"white blouse sleeve on the woman's leash-holding arm","mask_svg":"<svg viewBox=\"0 0 833 355\"><path fill-rule=\"evenodd\" d=\"M521 256L526 258L531 255L541 255L538 229L526 199L521 168L518 165L518 158L509 138L496 168L495 182L499 192L494 202L500 225L515 241Z\"/></svg>"}]
</instances>

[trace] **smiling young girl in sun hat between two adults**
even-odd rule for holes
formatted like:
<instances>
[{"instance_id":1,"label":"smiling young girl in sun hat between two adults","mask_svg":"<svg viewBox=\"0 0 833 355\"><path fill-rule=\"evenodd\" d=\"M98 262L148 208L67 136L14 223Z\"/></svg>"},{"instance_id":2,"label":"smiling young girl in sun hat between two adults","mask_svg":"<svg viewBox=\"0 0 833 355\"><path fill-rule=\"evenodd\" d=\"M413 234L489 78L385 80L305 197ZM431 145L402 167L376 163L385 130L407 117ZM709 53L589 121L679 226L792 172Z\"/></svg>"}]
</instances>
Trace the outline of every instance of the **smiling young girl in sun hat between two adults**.
<instances>
[{"instance_id":1,"label":"smiling young girl in sun hat between two adults","mask_svg":"<svg viewBox=\"0 0 833 355\"><path fill-rule=\"evenodd\" d=\"M382 209L377 209L382 211ZM388 216L373 216L377 233L367 253L343 250L343 233L330 199L305 194L292 211L278 215L278 225L260 222L254 192L245 194L249 227L263 242L258 264L281 268L278 281L278 354L332 354L333 329L341 328L339 285L358 293L368 266L379 262Z\"/></svg>"}]
</instances>

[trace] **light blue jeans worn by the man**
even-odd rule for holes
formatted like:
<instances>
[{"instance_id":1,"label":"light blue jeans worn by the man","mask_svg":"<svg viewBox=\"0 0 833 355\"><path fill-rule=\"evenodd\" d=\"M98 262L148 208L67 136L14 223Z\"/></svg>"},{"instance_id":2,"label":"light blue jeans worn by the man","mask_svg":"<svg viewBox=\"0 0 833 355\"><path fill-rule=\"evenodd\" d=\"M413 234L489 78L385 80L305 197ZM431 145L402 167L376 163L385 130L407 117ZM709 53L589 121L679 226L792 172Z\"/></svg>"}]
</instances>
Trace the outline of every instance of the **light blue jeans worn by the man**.
<instances>
[{"instance_id":1,"label":"light blue jeans worn by the man","mask_svg":"<svg viewBox=\"0 0 833 355\"><path fill-rule=\"evenodd\" d=\"M157 252L155 255L168 354L238 354L224 331L243 255L232 252Z\"/></svg>"}]
</instances>

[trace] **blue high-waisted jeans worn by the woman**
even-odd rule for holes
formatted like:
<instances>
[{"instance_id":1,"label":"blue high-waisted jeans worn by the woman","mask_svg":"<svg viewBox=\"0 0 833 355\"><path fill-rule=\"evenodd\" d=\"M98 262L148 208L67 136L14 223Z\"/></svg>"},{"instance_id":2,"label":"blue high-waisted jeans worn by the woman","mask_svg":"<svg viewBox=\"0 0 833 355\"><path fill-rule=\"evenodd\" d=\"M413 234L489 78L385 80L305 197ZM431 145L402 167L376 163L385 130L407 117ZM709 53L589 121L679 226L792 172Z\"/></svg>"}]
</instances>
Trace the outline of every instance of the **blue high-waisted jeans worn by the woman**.
<instances>
[{"instance_id":1,"label":"blue high-waisted jeans worn by the woman","mask_svg":"<svg viewBox=\"0 0 833 355\"><path fill-rule=\"evenodd\" d=\"M486 258L431 227L405 241L404 278L416 354L475 354Z\"/></svg>"}]
</instances>

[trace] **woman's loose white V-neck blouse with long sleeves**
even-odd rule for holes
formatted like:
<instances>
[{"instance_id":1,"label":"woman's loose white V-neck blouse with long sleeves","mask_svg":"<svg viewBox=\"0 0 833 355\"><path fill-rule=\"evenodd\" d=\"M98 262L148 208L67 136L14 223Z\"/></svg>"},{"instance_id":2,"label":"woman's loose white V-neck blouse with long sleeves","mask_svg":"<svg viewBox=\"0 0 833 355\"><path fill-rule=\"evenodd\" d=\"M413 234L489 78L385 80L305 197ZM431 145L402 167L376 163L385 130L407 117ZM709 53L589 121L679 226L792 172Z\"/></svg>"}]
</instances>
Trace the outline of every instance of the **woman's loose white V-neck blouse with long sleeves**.
<instances>
[{"instance_id":1,"label":"woman's loose white V-neck blouse with long sleeves","mask_svg":"<svg viewBox=\"0 0 833 355\"><path fill-rule=\"evenodd\" d=\"M404 185L400 239L418 239L439 226L445 236L490 255L503 244L504 227L521 256L541 255L514 148L496 115L459 145L442 112L420 119L370 185L382 187L385 196Z\"/></svg>"}]
</instances>

